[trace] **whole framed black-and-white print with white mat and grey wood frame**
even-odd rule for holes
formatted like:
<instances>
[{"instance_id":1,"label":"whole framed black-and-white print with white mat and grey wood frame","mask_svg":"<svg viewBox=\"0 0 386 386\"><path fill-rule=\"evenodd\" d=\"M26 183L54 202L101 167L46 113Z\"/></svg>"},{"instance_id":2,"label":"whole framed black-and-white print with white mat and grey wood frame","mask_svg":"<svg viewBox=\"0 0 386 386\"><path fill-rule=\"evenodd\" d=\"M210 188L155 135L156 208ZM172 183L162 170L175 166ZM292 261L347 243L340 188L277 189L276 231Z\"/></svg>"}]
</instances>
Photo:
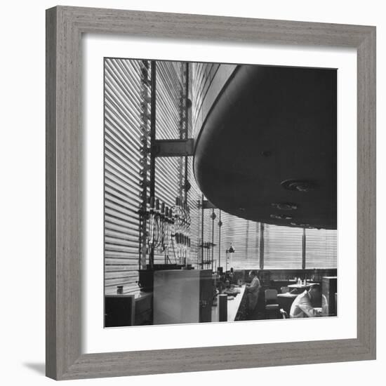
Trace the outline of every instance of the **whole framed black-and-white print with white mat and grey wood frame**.
<instances>
[{"instance_id":1,"label":"whole framed black-and-white print with white mat and grey wood frame","mask_svg":"<svg viewBox=\"0 0 386 386\"><path fill-rule=\"evenodd\" d=\"M47 375L375 359L375 27L46 21Z\"/></svg>"}]
</instances>

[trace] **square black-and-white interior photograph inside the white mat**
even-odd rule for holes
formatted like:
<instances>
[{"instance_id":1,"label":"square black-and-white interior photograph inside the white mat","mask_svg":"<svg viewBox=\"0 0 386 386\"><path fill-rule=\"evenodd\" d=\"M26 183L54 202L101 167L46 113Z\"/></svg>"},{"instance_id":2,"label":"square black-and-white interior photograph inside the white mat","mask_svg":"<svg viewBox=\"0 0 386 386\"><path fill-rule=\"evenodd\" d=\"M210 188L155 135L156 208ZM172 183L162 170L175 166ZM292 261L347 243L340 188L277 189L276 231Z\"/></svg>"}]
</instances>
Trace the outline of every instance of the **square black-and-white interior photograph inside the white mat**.
<instances>
[{"instance_id":1,"label":"square black-and-white interior photograph inside the white mat","mask_svg":"<svg viewBox=\"0 0 386 386\"><path fill-rule=\"evenodd\" d=\"M103 76L105 328L337 316L337 69Z\"/></svg>"}]
</instances>

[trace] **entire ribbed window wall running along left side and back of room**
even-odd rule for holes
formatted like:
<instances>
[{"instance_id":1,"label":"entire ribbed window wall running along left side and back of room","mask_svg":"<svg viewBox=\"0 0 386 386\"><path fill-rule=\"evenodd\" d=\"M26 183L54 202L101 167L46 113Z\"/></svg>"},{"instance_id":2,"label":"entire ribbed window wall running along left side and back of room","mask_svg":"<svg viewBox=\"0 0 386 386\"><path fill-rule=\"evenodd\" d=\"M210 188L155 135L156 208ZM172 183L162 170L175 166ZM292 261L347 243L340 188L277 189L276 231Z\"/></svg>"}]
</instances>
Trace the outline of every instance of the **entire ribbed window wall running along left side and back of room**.
<instances>
[{"instance_id":1,"label":"entire ribbed window wall running along left side and back of room","mask_svg":"<svg viewBox=\"0 0 386 386\"><path fill-rule=\"evenodd\" d=\"M147 66L148 67L148 66ZM117 285L124 285L125 293L138 288L138 239L140 204L140 147L141 127L144 124L144 97L149 95L149 69L146 61L112 59L105 60L105 291L115 293ZM178 100L182 90L180 62L159 64L159 114L157 114L158 138L178 137ZM169 79L177 85L173 90L166 87ZM178 90L176 92L176 90ZM149 107L146 107L149 114ZM166 113L167 112L167 113ZM172 114L173 112L173 114ZM146 114L145 114L146 115ZM173 119L171 120L171 115ZM165 117L168 120L165 121ZM189 124L189 136L192 125ZM173 204L178 195L176 176L177 160L157 162L157 193ZM192 208L192 263L198 255L201 242L201 216L197 201L201 192L195 184L192 160L188 159L188 178L192 188L188 194ZM162 181L167 182L162 186ZM261 225L221 212L222 227L219 232L220 211L215 209L214 224L212 210L204 213L204 241L213 239L220 247L213 248L213 258L225 266L226 249L230 243L235 253L229 255L229 267L250 269L260 267L263 253L264 267L302 267L302 229ZM214 226L213 226L214 225ZM305 267L336 267L336 231L306 229ZM208 240L206 240L208 238ZM264 241L264 250L261 241ZM156 260L160 258L156 256Z\"/></svg>"}]
</instances>

